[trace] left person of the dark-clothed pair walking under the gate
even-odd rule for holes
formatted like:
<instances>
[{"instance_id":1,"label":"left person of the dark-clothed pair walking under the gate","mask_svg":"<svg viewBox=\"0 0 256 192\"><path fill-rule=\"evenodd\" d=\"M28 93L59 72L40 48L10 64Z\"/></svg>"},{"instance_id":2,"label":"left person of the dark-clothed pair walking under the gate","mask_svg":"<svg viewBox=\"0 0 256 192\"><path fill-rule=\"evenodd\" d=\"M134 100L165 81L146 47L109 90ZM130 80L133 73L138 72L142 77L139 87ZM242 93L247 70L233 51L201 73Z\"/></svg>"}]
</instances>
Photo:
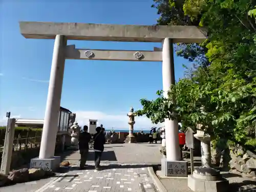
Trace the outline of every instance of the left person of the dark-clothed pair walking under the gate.
<instances>
[{"instance_id":1,"label":"left person of the dark-clothed pair walking under the gate","mask_svg":"<svg viewBox=\"0 0 256 192\"><path fill-rule=\"evenodd\" d=\"M86 161L89 154L89 142L91 140L91 134L88 133L88 126L83 126L83 132L79 134L79 151L80 151L80 169L83 169L86 165Z\"/></svg>"}]
</instances>

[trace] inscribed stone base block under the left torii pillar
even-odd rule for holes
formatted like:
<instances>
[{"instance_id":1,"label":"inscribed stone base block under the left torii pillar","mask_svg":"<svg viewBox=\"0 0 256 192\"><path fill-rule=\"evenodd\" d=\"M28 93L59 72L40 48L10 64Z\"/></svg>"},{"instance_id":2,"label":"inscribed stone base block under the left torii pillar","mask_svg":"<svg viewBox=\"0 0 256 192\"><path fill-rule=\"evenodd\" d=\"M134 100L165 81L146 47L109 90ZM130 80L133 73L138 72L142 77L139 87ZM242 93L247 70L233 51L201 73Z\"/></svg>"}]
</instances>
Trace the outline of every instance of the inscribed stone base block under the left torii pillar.
<instances>
[{"instance_id":1,"label":"inscribed stone base block under the left torii pillar","mask_svg":"<svg viewBox=\"0 0 256 192\"><path fill-rule=\"evenodd\" d=\"M56 170L59 168L60 157L55 156L49 159L34 158L30 160L30 168L42 168L44 170Z\"/></svg>"}]
</instances>

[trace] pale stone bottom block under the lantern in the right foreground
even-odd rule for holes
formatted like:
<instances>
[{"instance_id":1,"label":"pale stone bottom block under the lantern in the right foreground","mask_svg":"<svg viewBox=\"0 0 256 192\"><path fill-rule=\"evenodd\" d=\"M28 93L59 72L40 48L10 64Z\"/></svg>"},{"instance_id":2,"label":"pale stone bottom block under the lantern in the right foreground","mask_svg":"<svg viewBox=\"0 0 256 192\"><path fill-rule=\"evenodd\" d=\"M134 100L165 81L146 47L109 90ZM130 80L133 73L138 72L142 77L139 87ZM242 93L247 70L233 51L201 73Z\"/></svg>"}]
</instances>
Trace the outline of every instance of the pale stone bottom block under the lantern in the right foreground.
<instances>
[{"instance_id":1,"label":"pale stone bottom block under the lantern in the right foreground","mask_svg":"<svg viewBox=\"0 0 256 192\"><path fill-rule=\"evenodd\" d=\"M228 185L228 180L224 178L221 181L197 179L193 175L189 175L187 178L187 186L196 192L226 192Z\"/></svg>"}]
</instances>

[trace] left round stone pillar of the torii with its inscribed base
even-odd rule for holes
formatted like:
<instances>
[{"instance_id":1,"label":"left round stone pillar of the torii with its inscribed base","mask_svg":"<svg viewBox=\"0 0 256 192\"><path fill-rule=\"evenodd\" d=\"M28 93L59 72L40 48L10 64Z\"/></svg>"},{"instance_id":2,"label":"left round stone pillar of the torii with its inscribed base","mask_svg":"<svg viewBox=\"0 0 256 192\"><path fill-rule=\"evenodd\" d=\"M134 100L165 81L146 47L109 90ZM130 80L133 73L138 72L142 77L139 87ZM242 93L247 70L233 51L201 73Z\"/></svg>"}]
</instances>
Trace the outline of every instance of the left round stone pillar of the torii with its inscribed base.
<instances>
[{"instance_id":1,"label":"left round stone pillar of the torii with its inscribed base","mask_svg":"<svg viewBox=\"0 0 256 192\"><path fill-rule=\"evenodd\" d=\"M55 169L60 163L60 157L55 157L54 151L58 131L57 124L65 68L66 46L67 39L65 36L56 35L39 158L31 159L31 167Z\"/></svg>"}]
</instances>

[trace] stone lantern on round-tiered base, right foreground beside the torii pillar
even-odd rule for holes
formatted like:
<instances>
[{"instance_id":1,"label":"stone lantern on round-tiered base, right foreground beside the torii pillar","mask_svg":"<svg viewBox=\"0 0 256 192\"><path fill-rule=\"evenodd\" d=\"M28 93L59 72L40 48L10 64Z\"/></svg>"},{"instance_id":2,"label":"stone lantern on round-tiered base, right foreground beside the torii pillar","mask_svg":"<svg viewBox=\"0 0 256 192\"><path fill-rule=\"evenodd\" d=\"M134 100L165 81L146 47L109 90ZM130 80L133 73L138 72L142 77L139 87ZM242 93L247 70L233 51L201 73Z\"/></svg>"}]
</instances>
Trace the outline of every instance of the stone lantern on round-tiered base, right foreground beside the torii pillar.
<instances>
[{"instance_id":1,"label":"stone lantern on round-tiered base, right foreground beside the torii pillar","mask_svg":"<svg viewBox=\"0 0 256 192\"><path fill-rule=\"evenodd\" d=\"M196 167L193 175L187 179L188 187L197 192L224 192L228 187L228 180L224 179L219 170L211 167L210 135L197 130L195 138L201 141L202 166Z\"/></svg>"}]
</instances>

